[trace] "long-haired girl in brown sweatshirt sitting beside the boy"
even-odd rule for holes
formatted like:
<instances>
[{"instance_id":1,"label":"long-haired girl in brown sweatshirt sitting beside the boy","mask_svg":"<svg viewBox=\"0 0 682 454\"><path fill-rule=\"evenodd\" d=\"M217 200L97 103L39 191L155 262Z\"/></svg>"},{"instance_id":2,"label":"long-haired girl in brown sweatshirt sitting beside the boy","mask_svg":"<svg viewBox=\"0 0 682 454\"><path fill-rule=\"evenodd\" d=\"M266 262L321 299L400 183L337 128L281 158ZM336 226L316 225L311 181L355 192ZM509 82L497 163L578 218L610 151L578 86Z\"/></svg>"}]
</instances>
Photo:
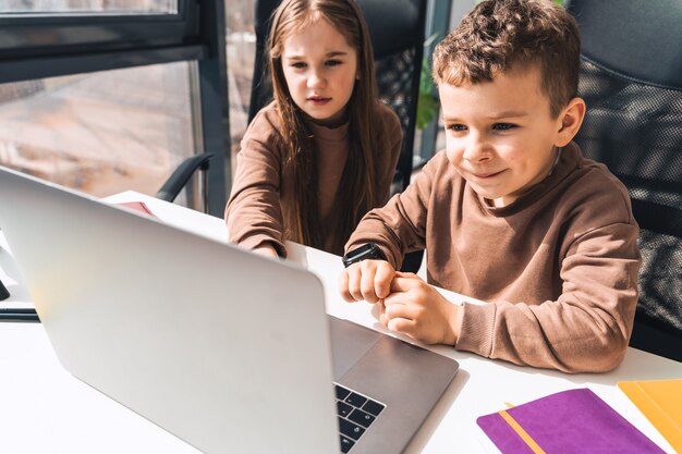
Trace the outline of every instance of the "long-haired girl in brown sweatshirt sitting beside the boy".
<instances>
[{"instance_id":1,"label":"long-haired girl in brown sweatshirt sitting beside the boy","mask_svg":"<svg viewBox=\"0 0 682 454\"><path fill-rule=\"evenodd\" d=\"M275 100L249 124L226 208L230 241L287 256L284 240L341 255L389 196L402 130L376 97L354 0L284 0L269 35Z\"/></svg>"}]
</instances>

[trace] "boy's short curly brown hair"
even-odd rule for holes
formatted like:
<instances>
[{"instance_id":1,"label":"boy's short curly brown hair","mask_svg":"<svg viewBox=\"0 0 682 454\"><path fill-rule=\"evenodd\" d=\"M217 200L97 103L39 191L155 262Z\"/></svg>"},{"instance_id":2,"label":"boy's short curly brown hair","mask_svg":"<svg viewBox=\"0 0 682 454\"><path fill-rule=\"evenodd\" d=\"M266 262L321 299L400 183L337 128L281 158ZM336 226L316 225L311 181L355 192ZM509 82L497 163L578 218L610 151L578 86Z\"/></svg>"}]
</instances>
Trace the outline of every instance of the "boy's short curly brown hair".
<instances>
[{"instance_id":1,"label":"boy's short curly brown hair","mask_svg":"<svg viewBox=\"0 0 682 454\"><path fill-rule=\"evenodd\" d=\"M490 82L520 64L537 64L552 116L577 93L580 34L571 14L550 0L487 0L434 51L436 84Z\"/></svg>"}]
</instances>

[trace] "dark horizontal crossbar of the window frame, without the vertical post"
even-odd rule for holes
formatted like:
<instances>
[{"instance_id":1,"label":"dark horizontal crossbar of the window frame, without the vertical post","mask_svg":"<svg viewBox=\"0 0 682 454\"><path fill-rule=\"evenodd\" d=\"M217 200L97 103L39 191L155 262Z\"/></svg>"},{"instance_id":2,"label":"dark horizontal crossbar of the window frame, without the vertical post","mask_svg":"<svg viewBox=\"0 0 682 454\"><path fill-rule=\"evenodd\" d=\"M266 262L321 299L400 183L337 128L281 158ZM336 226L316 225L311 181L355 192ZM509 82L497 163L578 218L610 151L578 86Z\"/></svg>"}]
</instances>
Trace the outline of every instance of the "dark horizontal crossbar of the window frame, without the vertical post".
<instances>
[{"instance_id":1,"label":"dark horizontal crossbar of the window frame, without the vertical post","mask_svg":"<svg viewBox=\"0 0 682 454\"><path fill-rule=\"evenodd\" d=\"M206 58L196 1L176 13L0 14L0 83Z\"/></svg>"}]
</instances>

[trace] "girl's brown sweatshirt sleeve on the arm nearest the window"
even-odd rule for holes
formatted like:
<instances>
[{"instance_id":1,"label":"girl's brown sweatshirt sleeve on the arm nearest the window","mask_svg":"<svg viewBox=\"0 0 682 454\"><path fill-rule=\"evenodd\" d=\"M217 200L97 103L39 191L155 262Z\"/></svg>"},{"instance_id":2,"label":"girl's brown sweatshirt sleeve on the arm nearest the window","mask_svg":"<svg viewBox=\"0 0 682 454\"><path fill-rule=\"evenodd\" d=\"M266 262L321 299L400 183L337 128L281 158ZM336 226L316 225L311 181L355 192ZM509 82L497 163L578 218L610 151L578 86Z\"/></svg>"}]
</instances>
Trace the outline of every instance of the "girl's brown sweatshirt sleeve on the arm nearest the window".
<instances>
[{"instance_id":1,"label":"girl's brown sweatshirt sleeve on the arm nearest the window","mask_svg":"<svg viewBox=\"0 0 682 454\"><path fill-rule=\"evenodd\" d=\"M229 241L249 249L271 243L285 256L280 184L282 157L271 108L248 126L236 155L236 172L226 207Z\"/></svg>"}]
</instances>

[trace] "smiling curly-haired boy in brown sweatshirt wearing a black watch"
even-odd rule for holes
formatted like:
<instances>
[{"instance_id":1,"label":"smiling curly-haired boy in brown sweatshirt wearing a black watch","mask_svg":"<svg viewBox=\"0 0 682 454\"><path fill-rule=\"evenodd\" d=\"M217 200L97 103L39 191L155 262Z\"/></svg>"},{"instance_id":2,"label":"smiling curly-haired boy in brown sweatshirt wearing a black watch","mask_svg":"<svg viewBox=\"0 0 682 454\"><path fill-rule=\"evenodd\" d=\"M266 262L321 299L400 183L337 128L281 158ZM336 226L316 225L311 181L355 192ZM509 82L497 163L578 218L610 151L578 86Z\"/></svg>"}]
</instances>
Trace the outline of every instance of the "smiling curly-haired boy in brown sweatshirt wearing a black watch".
<instances>
[{"instance_id":1,"label":"smiling curly-haired boy in brown sweatshirt wearing a black watch","mask_svg":"<svg viewBox=\"0 0 682 454\"><path fill-rule=\"evenodd\" d=\"M571 142L579 59L575 21L549 0L485 1L438 45L447 148L349 240L346 300L379 303L391 331L519 365L621 363L638 228L625 187ZM450 304L394 271L419 248L429 283L488 304Z\"/></svg>"}]
</instances>

